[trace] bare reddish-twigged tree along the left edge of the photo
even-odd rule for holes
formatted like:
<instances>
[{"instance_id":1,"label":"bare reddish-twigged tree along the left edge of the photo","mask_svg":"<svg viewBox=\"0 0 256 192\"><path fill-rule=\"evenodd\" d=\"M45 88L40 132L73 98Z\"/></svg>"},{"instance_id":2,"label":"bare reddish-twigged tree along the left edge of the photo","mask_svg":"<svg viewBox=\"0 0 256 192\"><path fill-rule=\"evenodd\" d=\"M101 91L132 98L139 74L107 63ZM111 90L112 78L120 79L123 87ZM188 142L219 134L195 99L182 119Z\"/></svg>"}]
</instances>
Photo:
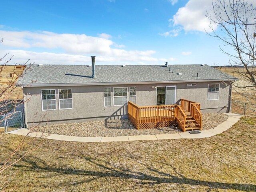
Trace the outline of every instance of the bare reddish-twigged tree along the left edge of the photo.
<instances>
[{"instance_id":1,"label":"bare reddish-twigged tree along the left edge of the photo","mask_svg":"<svg viewBox=\"0 0 256 192\"><path fill-rule=\"evenodd\" d=\"M0 43L3 40L3 38L0 39ZM9 56L8 54L0 58L0 115L6 114L6 118L9 119L12 118L13 113L8 112L10 110L15 112L18 105L24 104L22 88L19 87L17 82L18 78L22 77L24 72L30 70L30 66L32 65L31 63L28 64L28 60L23 65L14 64L10 66L9 64L12 58L13 56ZM6 71L9 77L6 77ZM44 117L45 115L42 117L42 120ZM1 121L3 120L0 120L0 123ZM19 138L19 142L13 149L10 149L9 156L5 160L0 160L0 190L5 188L8 182L14 178L16 172L12 171L12 166L40 147L41 142L37 140L43 134L38 135L36 138L29 137L29 134L34 132L38 126L40 126L40 123L33 125L28 134Z\"/></svg>"}]
</instances>

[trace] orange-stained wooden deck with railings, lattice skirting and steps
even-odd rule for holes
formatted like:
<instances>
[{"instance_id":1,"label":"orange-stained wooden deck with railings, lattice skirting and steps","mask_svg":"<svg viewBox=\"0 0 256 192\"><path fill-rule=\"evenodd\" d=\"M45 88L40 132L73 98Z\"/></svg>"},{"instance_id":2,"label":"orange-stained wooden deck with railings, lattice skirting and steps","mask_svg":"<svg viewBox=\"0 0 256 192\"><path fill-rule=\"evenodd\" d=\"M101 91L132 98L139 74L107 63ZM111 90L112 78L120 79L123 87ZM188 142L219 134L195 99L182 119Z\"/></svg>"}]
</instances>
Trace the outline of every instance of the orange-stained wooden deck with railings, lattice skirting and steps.
<instances>
[{"instance_id":1,"label":"orange-stained wooden deck with railings, lattice skirting and steps","mask_svg":"<svg viewBox=\"0 0 256 192\"><path fill-rule=\"evenodd\" d=\"M128 102L128 118L136 129L178 125L183 132L191 129L201 130L202 114L198 108L199 103L184 99L181 106L137 106Z\"/></svg>"}]
</instances>

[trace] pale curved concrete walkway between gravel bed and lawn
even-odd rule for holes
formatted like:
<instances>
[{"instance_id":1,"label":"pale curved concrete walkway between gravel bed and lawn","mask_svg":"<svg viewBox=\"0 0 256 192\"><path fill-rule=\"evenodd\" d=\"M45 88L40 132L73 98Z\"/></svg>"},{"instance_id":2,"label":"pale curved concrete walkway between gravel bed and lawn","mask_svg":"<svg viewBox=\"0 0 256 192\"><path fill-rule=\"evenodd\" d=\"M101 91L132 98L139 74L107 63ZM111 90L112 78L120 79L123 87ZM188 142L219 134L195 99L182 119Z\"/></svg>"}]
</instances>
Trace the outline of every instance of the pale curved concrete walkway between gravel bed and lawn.
<instances>
[{"instance_id":1,"label":"pale curved concrete walkway between gravel bed and lawn","mask_svg":"<svg viewBox=\"0 0 256 192\"><path fill-rule=\"evenodd\" d=\"M62 141L76 141L76 142L113 142L113 141L139 141L139 140L163 140L163 139L198 139L212 137L216 134L220 134L230 127L232 127L242 115L234 113L226 113L228 115L228 120L222 124L211 128L208 130L200 131L200 134L190 134L189 132L180 132L174 134L159 134L159 135L136 135L136 136L119 136L119 137L76 137L76 136L66 136L66 135L57 135L57 134L48 134L42 132L32 132L26 128L21 128L9 132L10 134L17 135L28 135L30 137L41 137L53 140L62 140Z\"/></svg>"}]
</instances>

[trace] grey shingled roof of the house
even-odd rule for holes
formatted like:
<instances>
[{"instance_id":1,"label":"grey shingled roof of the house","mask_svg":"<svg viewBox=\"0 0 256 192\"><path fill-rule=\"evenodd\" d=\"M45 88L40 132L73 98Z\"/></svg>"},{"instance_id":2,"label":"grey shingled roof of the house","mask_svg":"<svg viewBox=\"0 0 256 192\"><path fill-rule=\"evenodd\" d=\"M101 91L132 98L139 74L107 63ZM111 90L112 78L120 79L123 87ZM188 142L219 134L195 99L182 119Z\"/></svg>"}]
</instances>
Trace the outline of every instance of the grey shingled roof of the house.
<instances>
[{"instance_id":1,"label":"grey shingled roof of the house","mask_svg":"<svg viewBox=\"0 0 256 192\"><path fill-rule=\"evenodd\" d=\"M173 71L173 73L172 73ZM181 74L178 74L181 73ZM198 77L197 77L198 74ZM236 80L208 65L96 65L96 79L91 78L92 66L32 65L18 84L42 86L52 84L107 84L145 82L199 82Z\"/></svg>"}]
</instances>

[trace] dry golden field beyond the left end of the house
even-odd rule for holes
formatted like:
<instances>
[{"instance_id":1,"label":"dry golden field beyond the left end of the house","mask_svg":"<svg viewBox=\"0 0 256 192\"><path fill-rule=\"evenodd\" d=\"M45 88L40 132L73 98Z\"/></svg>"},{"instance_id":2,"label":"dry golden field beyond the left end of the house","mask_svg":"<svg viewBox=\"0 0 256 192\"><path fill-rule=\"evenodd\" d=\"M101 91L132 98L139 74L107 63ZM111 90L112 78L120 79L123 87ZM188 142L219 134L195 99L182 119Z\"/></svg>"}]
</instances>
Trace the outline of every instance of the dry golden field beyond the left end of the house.
<instances>
[{"instance_id":1,"label":"dry golden field beyond the left end of the house","mask_svg":"<svg viewBox=\"0 0 256 192\"><path fill-rule=\"evenodd\" d=\"M7 65L6 68L0 74L0 90L7 87L10 82L15 81L16 78L10 77L10 73L21 73L23 70L20 68L15 68L14 65ZM8 93L7 93L8 94ZM22 99L22 89L20 87L16 88L16 91L9 97L10 99Z\"/></svg>"}]
</instances>

